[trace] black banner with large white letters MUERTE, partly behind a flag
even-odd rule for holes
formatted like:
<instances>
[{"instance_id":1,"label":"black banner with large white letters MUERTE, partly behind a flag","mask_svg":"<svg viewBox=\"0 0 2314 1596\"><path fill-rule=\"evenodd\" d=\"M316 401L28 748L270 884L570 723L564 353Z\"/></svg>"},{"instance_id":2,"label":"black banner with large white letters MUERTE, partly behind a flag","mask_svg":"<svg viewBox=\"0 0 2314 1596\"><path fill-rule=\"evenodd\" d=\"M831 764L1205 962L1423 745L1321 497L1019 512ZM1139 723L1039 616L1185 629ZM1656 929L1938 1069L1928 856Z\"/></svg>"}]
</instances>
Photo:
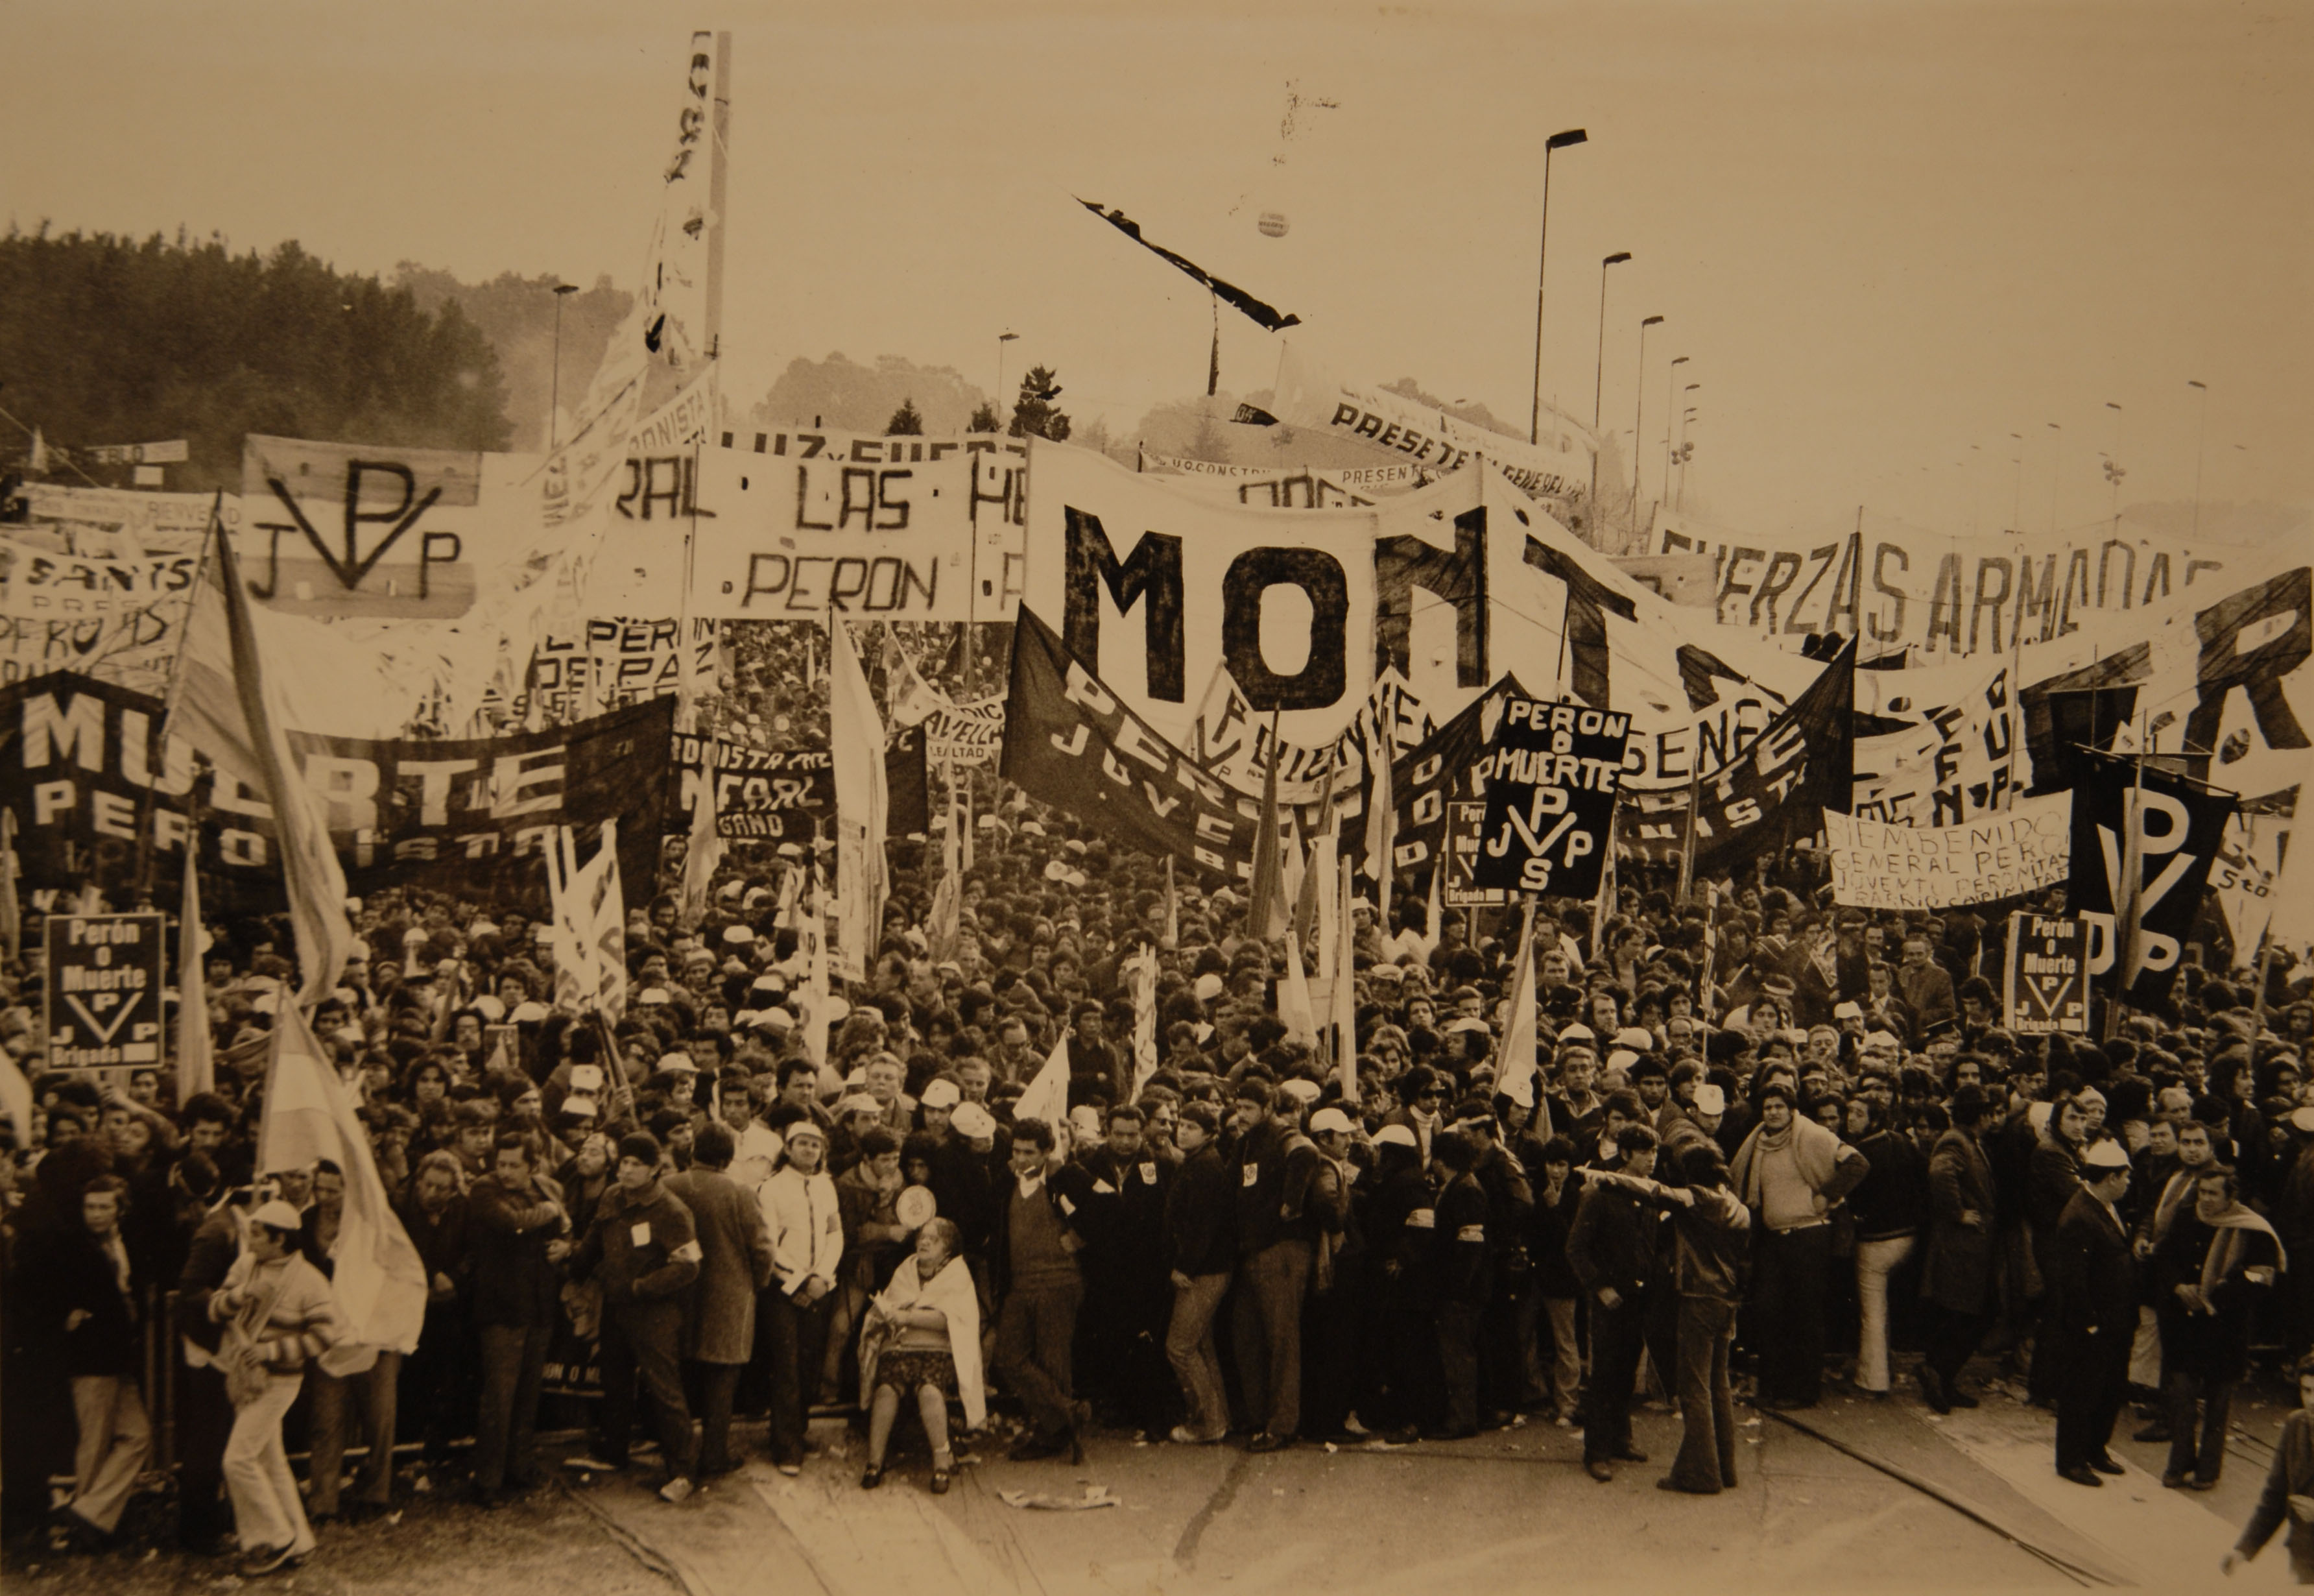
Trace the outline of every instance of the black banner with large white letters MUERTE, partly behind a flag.
<instances>
[{"instance_id":1,"label":"black banner with large white letters MUERTE, partly behind a flag","mask_svg":"<svg viewBox=\"0 0 2314 1596\"><path fill-rule=\"evenodd\" d=\"M16 857L32 889L134 889L146 845L178 869L199 811L201 869L218 906L280 901L273 811L255 781L197 776L194 751L160 734L160 700L58 674L0 688L0 806L19 815ZM657 878L673 700L595 720L477 741L370 741L289 732L322 797L354 892L435 887L504 908L544 908L539 850L560 825L590 845L618 820L629 892ZM208 883L204 883L208 885Z\"/></svg>"}]
</instances>

